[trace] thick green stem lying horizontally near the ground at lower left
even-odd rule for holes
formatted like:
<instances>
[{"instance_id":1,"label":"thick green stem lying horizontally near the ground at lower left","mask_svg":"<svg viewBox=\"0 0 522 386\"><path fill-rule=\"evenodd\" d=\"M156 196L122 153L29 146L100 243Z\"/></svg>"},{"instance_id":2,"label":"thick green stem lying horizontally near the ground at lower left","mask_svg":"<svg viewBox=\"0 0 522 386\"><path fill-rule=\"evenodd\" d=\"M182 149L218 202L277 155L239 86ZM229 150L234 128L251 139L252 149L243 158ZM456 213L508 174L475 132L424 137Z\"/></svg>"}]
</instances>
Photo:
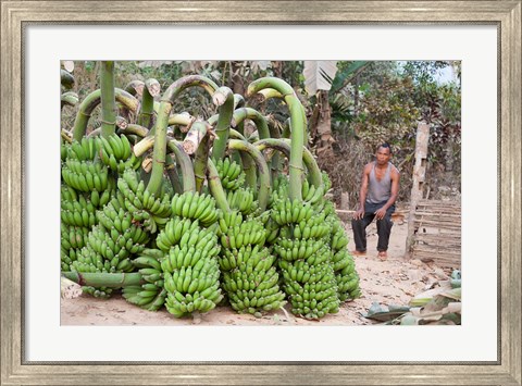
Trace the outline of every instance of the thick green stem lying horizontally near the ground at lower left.
<instances>
[{"instance_id":1,"label":"thick green stem lying horizontally near the ground at lower left","mask_svg":"<svg viewBox=\"0 0 522 386\"><path fill-rule=\"evenodd\" d=\"M123 288L127 286L138 286L144 283L140 273L88 273L88 272L62 272L62 275L79 284L90 287Z\"/></svg>"}]
</instances>

